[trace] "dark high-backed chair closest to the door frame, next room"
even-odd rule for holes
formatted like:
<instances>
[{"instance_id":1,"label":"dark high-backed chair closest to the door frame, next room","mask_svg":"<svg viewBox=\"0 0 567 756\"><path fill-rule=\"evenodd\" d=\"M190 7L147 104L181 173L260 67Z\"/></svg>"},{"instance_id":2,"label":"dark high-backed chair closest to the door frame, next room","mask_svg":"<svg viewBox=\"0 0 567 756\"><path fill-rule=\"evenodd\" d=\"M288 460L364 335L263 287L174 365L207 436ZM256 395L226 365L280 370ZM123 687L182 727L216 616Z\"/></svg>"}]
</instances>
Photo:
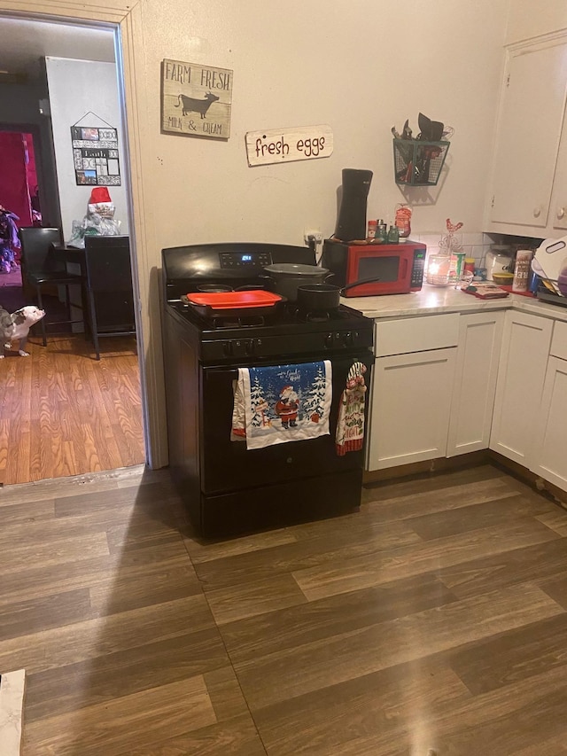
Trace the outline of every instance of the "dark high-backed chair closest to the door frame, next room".
<instances>
[{"instance_id":1,"label":"dark high-backed chair closest to the door frame, next room","mask_svg":"<svg viewBox=\"0 0 567 756\"><path fill-rule=\"evenodd\" d=\"M98 339L136 335L128 237L85 237L84 289L87 330L100 360Z\"/></svg>"}]
</instances>

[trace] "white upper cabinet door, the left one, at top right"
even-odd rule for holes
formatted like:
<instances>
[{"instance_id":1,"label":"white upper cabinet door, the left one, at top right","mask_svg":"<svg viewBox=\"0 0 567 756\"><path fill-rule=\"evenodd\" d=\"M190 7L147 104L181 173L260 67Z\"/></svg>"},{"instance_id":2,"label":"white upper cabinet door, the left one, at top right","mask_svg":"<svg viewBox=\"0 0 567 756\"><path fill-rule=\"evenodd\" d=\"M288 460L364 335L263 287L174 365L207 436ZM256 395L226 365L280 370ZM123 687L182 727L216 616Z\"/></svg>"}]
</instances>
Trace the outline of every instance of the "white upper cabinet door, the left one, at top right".
<instances>
[{"instance_id":1,"label":"white upper cabinet door, the left one, at top right","mask_svg":"<svg viewBox=\"0 0 567 756\"><path fill-rule=\"evenodd\" d=\"M545 235L566 94L567 37L507 51L487 230Z\"/></svg>"}]
</instances>

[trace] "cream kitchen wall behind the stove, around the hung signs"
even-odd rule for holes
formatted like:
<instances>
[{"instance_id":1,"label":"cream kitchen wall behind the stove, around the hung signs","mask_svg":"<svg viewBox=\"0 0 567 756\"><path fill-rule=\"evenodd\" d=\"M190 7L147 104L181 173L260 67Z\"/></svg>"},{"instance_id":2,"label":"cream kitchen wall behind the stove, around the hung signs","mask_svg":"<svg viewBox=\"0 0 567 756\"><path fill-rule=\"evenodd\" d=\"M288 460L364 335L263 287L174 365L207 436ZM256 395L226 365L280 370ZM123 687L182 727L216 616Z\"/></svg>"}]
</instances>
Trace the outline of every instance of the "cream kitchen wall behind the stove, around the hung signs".
<instances>
[{"instance_id":1,"label":"cream kitchen wall behind the stove, around the hung signs","mask_svg":"<svg viewBox=\"0 0 567 756\"><path fill-rule=\"evenodd\" d=\"M330 235L342 168L369 168L369 216L415 207L416 233L482 230L508 0L145 0L148 171L160 246ZM163 58L234 70L228 142L159 133ZM392 125L419 111L454 127L432 190L393 180ZM248 168L245 133L328 123L328 159Z\"/></svg>"}]
</instances>

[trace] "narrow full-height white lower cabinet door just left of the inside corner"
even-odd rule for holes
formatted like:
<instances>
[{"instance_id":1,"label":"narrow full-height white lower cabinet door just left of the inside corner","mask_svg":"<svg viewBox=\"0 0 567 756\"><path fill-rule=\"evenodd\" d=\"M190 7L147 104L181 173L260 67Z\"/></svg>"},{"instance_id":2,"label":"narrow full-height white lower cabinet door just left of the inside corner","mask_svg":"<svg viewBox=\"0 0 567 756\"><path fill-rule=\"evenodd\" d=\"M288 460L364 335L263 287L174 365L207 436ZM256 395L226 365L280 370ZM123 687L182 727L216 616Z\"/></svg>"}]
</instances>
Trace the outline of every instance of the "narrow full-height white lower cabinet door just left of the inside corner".
<instances>
[{"instance_id":1,"label":"narrow full-height white lower cabinet door just left of the inside corner","mask_svg":"<svg viewBox=\"0 0 567 756\"><path fill-rule=\"evenodd\" d=\"M503 325L501 311L459 318L447 456L488 448Z\"/></svg>"}]
</instances>

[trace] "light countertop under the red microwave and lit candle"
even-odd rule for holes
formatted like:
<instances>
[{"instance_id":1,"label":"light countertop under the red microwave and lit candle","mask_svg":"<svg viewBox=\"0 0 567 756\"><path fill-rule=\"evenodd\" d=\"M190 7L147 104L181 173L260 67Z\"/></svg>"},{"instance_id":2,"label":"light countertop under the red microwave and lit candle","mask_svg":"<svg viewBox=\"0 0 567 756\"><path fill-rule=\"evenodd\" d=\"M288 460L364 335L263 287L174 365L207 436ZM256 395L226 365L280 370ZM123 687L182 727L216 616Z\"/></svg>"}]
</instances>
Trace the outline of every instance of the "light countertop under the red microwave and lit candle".
<instances>
[{"instance_id":1,"label":"light countertop under the red microwave and lit candle","mask_svg":"<svg viewBox=\"0 0 567 756\"><path fill-rule=\"evenodd\" d=\"M501 300L479 300L452 286L423 284L421 292L386 294L382 297L343 297L341 304L359 310L371 318L432 315L441 312L478 312L514 308L534 315L567 321L567 308L540 302L521 294L509 294Z\"/></svg>"}]
</instances>

